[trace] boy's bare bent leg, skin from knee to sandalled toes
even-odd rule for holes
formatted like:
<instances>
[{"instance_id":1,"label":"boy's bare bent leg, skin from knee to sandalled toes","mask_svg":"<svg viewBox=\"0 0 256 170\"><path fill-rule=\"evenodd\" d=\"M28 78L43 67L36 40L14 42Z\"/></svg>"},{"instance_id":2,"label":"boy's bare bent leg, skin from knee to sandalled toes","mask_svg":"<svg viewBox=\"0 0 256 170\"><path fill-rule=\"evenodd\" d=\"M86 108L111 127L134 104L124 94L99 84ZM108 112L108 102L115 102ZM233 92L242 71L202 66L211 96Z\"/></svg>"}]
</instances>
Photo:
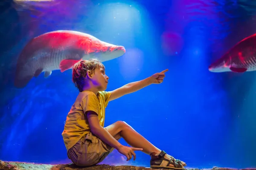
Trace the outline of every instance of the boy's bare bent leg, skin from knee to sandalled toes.
<instances>
[{"instance_id":1,"label":"boy's bare bent leg, skin from knee to sandalled toes","mask_svg":"<svg viewBox=\"0 0 256 170\"><path fill-rule=\"evenodd\" d=\"M122 137L132 147L143 148L143 152L148 155L158 155L161 152L160 149L151 144L147 139L140 135L140 133L137 133L136 130L125 122L117 121L106 127L106 129L115 139L120 139ZM166 154L165 157L166 156L168 158L172 158L172 156L168 154ZM186 165L183 161L182 164Z\"/></svg>"}]
</instances>

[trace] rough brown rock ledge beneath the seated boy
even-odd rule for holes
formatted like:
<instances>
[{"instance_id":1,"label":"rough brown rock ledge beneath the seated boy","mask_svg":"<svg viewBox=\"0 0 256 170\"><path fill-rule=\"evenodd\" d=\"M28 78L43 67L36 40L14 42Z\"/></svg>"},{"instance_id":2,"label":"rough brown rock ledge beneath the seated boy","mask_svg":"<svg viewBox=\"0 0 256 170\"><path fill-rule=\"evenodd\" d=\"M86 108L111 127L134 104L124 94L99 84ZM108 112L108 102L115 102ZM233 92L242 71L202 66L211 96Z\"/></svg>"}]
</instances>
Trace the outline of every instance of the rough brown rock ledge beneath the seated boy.
<instances>
[{"instance_id":1,"label":"rough brown rock ledge beneath the seated boy","mask_svg":"<svg viewBox=\"0 0 256 170\"><path fill-rule=\"evenodd\" d=\"M74 164L34 164L26 162L6 162L0 160L0 170L155 170L148 167L136 167L129 165L111 166L107 164L99 164L92 167L78 167ZM199 170L199 169L186 169ZM229 168L214 167L212 169L204 170L234 170ZM246 170L256 170L246 169Z\"/></svg>"}]
</instances>

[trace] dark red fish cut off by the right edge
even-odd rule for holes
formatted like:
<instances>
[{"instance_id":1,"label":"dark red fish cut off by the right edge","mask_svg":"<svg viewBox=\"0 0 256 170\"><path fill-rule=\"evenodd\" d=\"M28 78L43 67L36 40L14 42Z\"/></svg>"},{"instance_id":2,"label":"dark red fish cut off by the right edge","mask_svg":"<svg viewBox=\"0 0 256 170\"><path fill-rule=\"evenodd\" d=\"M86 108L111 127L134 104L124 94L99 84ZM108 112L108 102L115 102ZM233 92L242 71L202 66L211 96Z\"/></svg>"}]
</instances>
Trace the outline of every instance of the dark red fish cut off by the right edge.
<instances>
[{"instance_id":1,"label":"dark red fish cut off by the right edge","mask_svg":"<svg viewBox=\"0 0 256 170\"><path fill-rule=\"evenodd\" d=\"M244 38L220 59L209 65L211 72L256 71L256 34Z\"/></svg>"}]
</instances>

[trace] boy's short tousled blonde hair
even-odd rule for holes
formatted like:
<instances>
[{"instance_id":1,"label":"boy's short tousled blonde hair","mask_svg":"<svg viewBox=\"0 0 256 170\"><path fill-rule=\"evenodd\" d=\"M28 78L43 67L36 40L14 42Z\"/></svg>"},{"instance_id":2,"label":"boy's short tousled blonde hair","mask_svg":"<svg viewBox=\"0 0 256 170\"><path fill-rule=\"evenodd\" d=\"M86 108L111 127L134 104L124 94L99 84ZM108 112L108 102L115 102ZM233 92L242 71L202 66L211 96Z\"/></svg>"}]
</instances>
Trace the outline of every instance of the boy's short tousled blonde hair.
<instances>
[{"instance_id":1,"label":"boy's short tousled blonde hair","mask_svg":"<svg viewBox=\"0 0 256 170\"><path fill-rule=\"evenodd\" d=\"M72 82L80 92L83 91L87 71L93 72L96 68L105 69L105 66L98 59L81 60L74 64L72 68Z\"/></svg>"}]
</instances>

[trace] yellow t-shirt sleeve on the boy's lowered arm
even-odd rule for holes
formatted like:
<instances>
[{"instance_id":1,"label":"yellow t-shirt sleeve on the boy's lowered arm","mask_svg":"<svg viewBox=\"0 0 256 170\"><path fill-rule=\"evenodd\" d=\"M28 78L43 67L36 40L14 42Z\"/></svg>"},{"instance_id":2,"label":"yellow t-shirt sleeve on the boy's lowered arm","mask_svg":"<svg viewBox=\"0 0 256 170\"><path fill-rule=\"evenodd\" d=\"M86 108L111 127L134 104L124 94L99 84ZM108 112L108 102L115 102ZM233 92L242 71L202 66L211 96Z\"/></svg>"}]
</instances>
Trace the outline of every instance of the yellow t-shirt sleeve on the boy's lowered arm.
<instances>
[{"instance_id":1,"label":"yellow t-shirt sleeve on the boy's lowered arm","mask_svg":"<svg viewBox=\"0 0 256 170\"><path fill-rule=\"evenodd\" d=\"M95 113L99 114L99 104L96 95L88 94L82 99L82 108L85 112L87 111L94 111Z\"/></svg>"}]
</instances>

